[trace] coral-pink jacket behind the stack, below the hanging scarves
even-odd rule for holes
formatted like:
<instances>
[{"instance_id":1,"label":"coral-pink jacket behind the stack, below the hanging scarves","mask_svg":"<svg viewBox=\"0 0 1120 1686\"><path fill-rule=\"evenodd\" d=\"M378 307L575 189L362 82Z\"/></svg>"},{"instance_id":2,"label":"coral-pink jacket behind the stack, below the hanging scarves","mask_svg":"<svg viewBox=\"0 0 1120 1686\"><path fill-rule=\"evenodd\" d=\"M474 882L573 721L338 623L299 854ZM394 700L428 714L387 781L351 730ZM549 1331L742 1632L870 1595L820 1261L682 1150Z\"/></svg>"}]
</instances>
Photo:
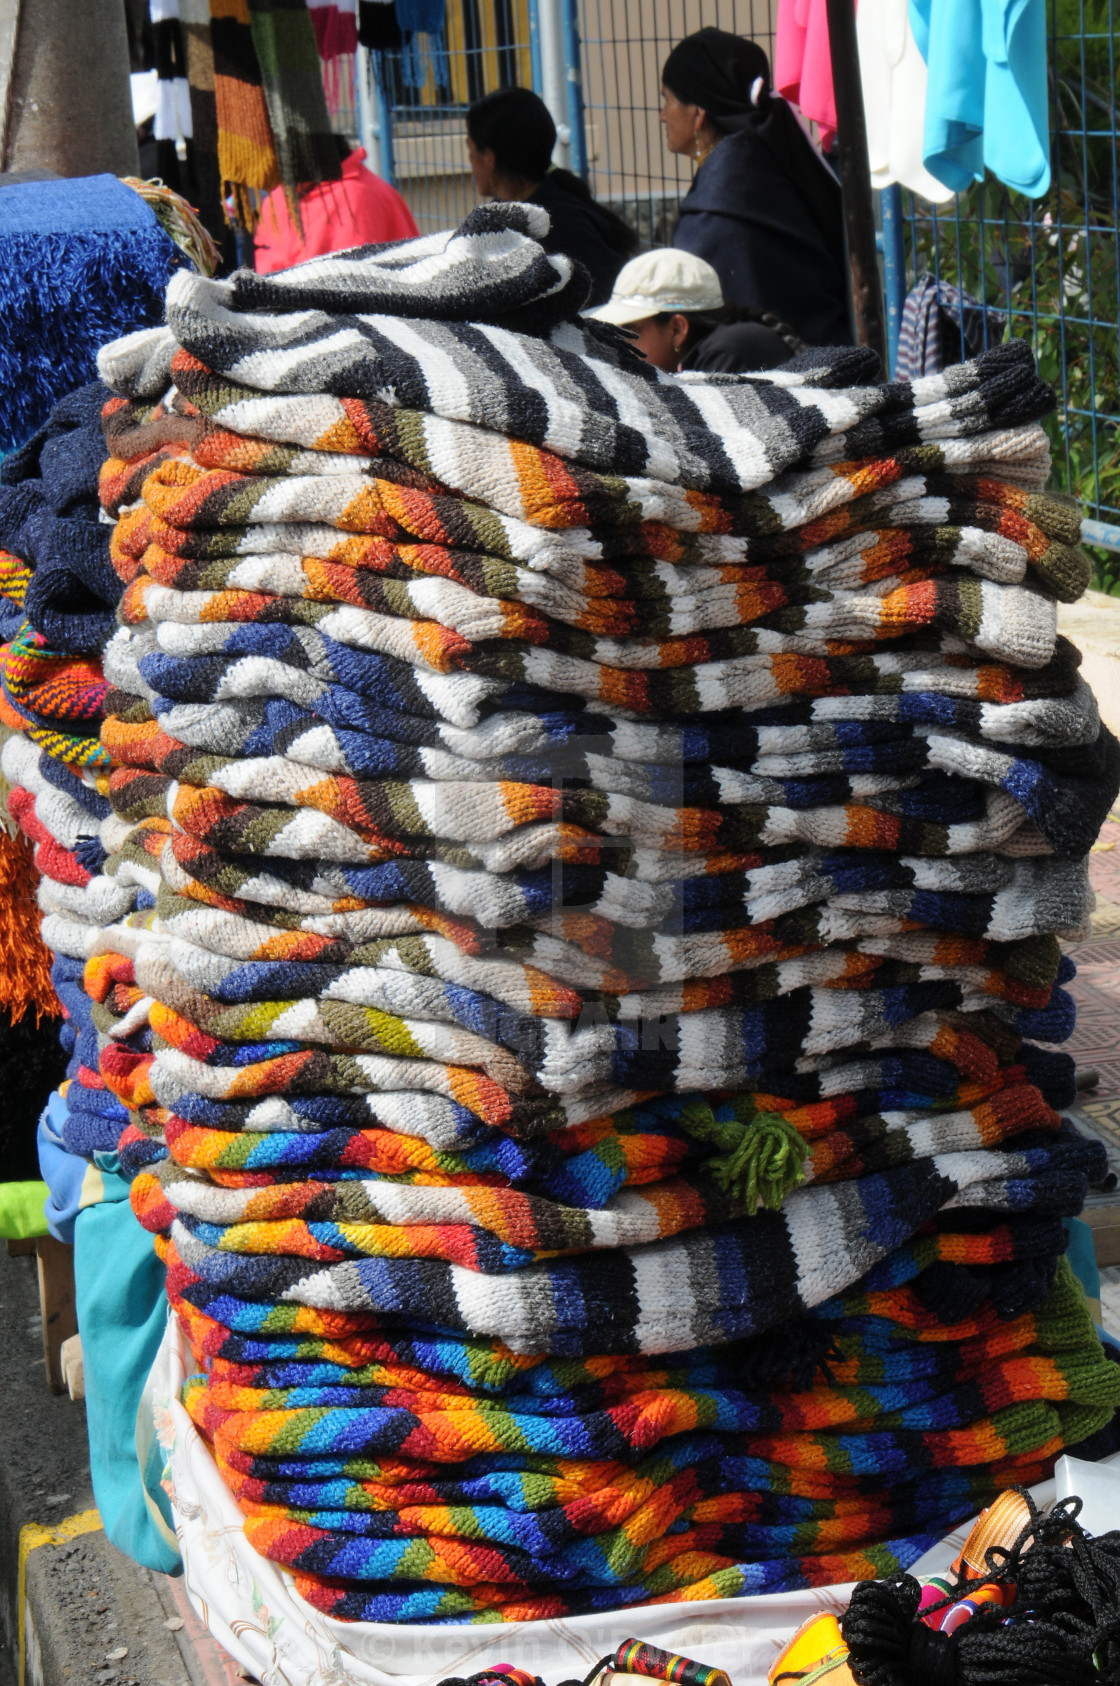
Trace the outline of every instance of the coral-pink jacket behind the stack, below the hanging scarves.
<instances>
[{"instance_id":1,"label":"coral-pink jacket behind the stack, below the hanging scarves","mask_svg":"<svg viewBox=\"0 0 1120 1686\"><path fill-rule=\"evenodd\" d=\"M273 187L261 206L255 236L258 275L290 270L304 258L322 258L351 246L378 246L390 239L412 239L417 233L412 211L388 182L366 169L361 147L351 152L336 135L342 153L342 179L319 182L300 194L300 234L283 187Z\"/></svg>"}]
</instances>

